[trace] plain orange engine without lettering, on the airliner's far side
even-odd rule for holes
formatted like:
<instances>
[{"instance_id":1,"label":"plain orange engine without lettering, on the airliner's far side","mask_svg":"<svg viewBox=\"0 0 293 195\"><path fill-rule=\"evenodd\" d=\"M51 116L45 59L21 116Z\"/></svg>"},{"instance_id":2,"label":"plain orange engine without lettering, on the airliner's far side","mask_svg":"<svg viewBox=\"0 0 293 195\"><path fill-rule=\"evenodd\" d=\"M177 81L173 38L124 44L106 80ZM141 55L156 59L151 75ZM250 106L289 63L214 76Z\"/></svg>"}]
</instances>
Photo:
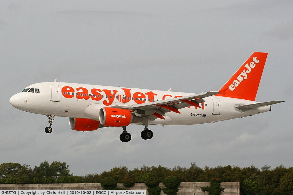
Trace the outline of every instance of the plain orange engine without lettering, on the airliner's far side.
<instances>
[{"instance_id":1,"label":"plain orange engine without lettering, on the airliner's far side","mask_svg":"<svg viewBox=\"0 0 293 195\"><path fill-rule=\"evenodd\" d=\"M100 122L88 118L69 118L69 127L76 131L97 130Z\"/></svg>"}]
</instances>

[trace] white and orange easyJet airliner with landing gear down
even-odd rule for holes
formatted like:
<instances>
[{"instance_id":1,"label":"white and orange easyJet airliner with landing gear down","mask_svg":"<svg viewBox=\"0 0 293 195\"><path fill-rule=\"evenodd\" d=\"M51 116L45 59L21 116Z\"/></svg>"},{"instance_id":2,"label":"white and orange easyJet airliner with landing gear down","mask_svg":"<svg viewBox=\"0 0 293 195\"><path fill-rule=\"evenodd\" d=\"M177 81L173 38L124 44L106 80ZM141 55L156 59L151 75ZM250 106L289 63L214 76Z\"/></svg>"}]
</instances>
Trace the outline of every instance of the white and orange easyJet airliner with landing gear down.
<instances>
[{"instance_id":1,"label":"white and orange easyJet airliner with landing gear down","mask_svg":"<svg viewBox=\"0 0 293 195\"><path fill-rule=\"evenodd\" d=\"M270 105L282 101L255 101L267 55L254 52L218 92L190 94L55 80L29 85L9 101L20 110L47 115L46 133L52 132L54 117L63 116L78 131L122 127L123 142L131 139L126 126L141 124L142 139L151 139L149 125L202 124L270 111Z\"/></svg>"}]
</instances>

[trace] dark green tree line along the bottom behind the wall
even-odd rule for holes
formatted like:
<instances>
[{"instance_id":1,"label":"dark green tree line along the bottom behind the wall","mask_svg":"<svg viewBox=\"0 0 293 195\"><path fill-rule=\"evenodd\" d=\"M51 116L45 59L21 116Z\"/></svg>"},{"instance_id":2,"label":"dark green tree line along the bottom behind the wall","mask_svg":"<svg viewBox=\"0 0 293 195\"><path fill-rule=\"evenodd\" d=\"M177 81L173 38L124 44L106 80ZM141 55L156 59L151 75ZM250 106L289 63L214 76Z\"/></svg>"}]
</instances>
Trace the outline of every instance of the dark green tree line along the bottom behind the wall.
<instances>
[{"instance_id":1,"label":"dark green tree line along the bottom behind the wall","mask_svg":"<svg viewBox=\"0 0 293 195\"><path fill-rule=\"evenodd\" d=\"M146 166L129 170L125 166L114 167L110 171L100 174L75 176L70 173L69 165L65 162L44 161L39 166L31 168L30 165L19 163L2 163L0 165L1 184L25 183L101 183L105 178L112 178L116 182L146 182L156 178L163 182L169 176L175 176L180 182L210 182L217 178L223 182L240 182L242 194L293 194L293 167L283 165L271 168L268 165L261 169L251 165L240 168L239 166L217 166L200 168L196 163L190 167L166 168L161 165Z\"/></svg>"}]
</instances>

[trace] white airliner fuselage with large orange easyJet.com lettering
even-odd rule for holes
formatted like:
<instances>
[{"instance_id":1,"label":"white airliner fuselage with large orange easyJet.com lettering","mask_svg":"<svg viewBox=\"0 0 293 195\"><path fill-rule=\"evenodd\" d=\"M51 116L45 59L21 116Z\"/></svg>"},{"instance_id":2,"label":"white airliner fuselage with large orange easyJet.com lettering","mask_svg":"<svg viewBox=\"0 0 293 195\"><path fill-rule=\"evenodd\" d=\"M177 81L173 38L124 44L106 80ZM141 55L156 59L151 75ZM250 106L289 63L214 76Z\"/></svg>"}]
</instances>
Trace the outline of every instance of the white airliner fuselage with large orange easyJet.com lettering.
<instances>
[{"instance_id":1,"label":"white airliner fuselage with large orange easyJet.com lettering","mask_svg":"<svg viewBox=\"0 0 293 195\"><path fill-rule=\"evenodd\" d=\"M54 86L57 87L55 91L53 89ZM19 99L19 109L43 115L91 118L95 120L98 119L98 108L127 106L191 95L190 93L182 92L64 82L44 82L33 84L29 87L40 89L40 93L21 92L16 94L15 97ZM25 98L22 98L23 94L25 94ZM96 95L93 96L93 94ZM270 110L270 106L264 106L242 112L235 108L235 105L258 103L243 99L210 96L204 100L205 102L200 105L201 108L194 106L181 108L179 109L180 114L167 112L166 116L164 116L165 119L149 120L149 125L193 125L240 118ZM95 106L89 106L92 104L95 104ZM91 109L86 111L87 107ZM95 110L95 108L97 109Z\"/></svg>"}]
</instances>

